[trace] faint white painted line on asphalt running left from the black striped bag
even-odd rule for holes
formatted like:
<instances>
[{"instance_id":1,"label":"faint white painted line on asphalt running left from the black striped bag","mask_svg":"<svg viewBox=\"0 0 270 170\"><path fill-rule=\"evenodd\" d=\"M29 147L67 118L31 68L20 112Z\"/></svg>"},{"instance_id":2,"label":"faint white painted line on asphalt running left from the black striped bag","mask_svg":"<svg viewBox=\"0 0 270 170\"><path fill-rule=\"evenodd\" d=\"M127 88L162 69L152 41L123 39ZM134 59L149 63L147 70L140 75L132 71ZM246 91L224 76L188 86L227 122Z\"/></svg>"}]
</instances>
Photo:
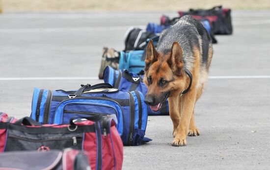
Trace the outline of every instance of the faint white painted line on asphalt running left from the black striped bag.
<instances>
[{"instance_id":1,"label":"faint white painted line on asphalt running left from the black striped bag","mask_svg":"<svg viewBox=\"0 0 270 170\"><path fill-rule=\"evenodd\" d=\"M93 26L93 27L63 27L63 28L3 28L0 33L21 33L21 32L63 32L63 31L108 31L108 30L127 30L131 26ZM145 25L135 27L146 28Z\"/></svg>"}]
</instances>

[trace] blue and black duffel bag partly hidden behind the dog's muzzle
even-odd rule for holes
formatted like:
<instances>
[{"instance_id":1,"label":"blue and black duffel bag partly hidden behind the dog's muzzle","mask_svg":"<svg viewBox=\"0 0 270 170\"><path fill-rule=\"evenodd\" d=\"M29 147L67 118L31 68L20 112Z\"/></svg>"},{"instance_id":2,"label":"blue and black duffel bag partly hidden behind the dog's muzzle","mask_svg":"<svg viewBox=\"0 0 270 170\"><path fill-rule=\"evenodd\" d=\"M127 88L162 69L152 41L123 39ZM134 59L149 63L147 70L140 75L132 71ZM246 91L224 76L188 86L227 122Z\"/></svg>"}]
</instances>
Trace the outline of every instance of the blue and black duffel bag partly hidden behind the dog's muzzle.
<instances>
[{"instance_id":1,"label":"blue and black duffel bag partly hidden behind the dog's muzzle","mask_svg":"<svg viewBox=\"0 0 270 170\"><path fill-rule=\"evenodd\" d=\"M143 83L144 72L141 71L138 74L124 70L114 70L112 67L107 66L104 70L104 82L109 83L114 88L119 89L123 92L130 92L137 90L141 92L144 96L147 93L147 87ZM155 112L147 106L148 115L169 115L169 104L168 100L162 103L162 108Z\"/></svg>"}]
</instances>

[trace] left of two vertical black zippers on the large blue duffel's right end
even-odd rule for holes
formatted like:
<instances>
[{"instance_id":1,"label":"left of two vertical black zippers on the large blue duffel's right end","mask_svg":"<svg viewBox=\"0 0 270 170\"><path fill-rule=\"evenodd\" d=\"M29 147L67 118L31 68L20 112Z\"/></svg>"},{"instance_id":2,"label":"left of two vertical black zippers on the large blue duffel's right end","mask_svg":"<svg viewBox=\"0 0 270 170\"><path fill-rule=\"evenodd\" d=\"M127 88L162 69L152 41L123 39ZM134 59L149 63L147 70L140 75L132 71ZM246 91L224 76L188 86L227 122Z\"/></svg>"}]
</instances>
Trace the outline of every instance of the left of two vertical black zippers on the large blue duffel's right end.
<instances>
[{"instance_id":1,"label":"left of two vertical black zippers on the large blue duffel's right end","mask_svg":"<svg viewBox=\"0 0 270 170\"><path fill-rule=\"evenodd\" d=\"M131 92L128 92L130 95L130 131L128 136L128 145L132 145L133 142L133 133L134 133L134 120L135 120L135 106L134 98Z\"/></svg>"}]
</instances>

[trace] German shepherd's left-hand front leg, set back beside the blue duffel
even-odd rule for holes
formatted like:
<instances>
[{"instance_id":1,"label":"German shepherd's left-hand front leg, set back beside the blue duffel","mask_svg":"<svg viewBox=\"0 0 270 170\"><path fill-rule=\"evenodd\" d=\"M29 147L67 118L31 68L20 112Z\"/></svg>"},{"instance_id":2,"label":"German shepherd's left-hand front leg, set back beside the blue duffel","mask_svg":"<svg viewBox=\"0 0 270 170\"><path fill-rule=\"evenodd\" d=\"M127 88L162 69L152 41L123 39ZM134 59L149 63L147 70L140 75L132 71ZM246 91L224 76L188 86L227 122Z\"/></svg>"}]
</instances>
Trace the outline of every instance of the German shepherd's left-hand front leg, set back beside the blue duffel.
<instances>
[{"instance_id":1,"label":"German shepherd's left-hand front leg, set back beside the blue duffel","mask_svg":"<svg viewBox=\"0 0 270 170\"><path fill-rule=\"evenodd\" d=\"M169 101L169 114L170 114L170 118L172 120L172 124L173 124L173 131L172 131L172 135L173 137L175 137L176 133L177 133L177 127L179 125L180 122L180 96L176 96L176 97L169 97L168 101Z\"/></svg>"}]
</instances>

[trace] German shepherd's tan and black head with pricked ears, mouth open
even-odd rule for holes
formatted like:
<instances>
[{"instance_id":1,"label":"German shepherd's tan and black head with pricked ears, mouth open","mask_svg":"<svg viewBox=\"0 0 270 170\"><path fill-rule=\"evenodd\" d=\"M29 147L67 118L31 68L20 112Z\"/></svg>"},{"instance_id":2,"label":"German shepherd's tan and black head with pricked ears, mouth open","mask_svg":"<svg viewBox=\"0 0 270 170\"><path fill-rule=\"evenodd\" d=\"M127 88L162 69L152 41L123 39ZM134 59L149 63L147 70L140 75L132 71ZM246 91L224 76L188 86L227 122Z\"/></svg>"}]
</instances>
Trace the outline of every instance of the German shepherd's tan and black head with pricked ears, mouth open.
<instances>
[{"instance_id":1,"label":"German shepherd's tan and black head with pricked ears, mouth open","mask_svg":"<svg viewBox=\"0 0 270 170\"><path fill-rule=\"evenodd\" d=\"M150 41L146 49L144 83L148 88L145 103L158 111L162 103L171 96L180 95L186 82L183 50L174 42L169 51L158 52Z\"/></svg>"}]
</instances>

